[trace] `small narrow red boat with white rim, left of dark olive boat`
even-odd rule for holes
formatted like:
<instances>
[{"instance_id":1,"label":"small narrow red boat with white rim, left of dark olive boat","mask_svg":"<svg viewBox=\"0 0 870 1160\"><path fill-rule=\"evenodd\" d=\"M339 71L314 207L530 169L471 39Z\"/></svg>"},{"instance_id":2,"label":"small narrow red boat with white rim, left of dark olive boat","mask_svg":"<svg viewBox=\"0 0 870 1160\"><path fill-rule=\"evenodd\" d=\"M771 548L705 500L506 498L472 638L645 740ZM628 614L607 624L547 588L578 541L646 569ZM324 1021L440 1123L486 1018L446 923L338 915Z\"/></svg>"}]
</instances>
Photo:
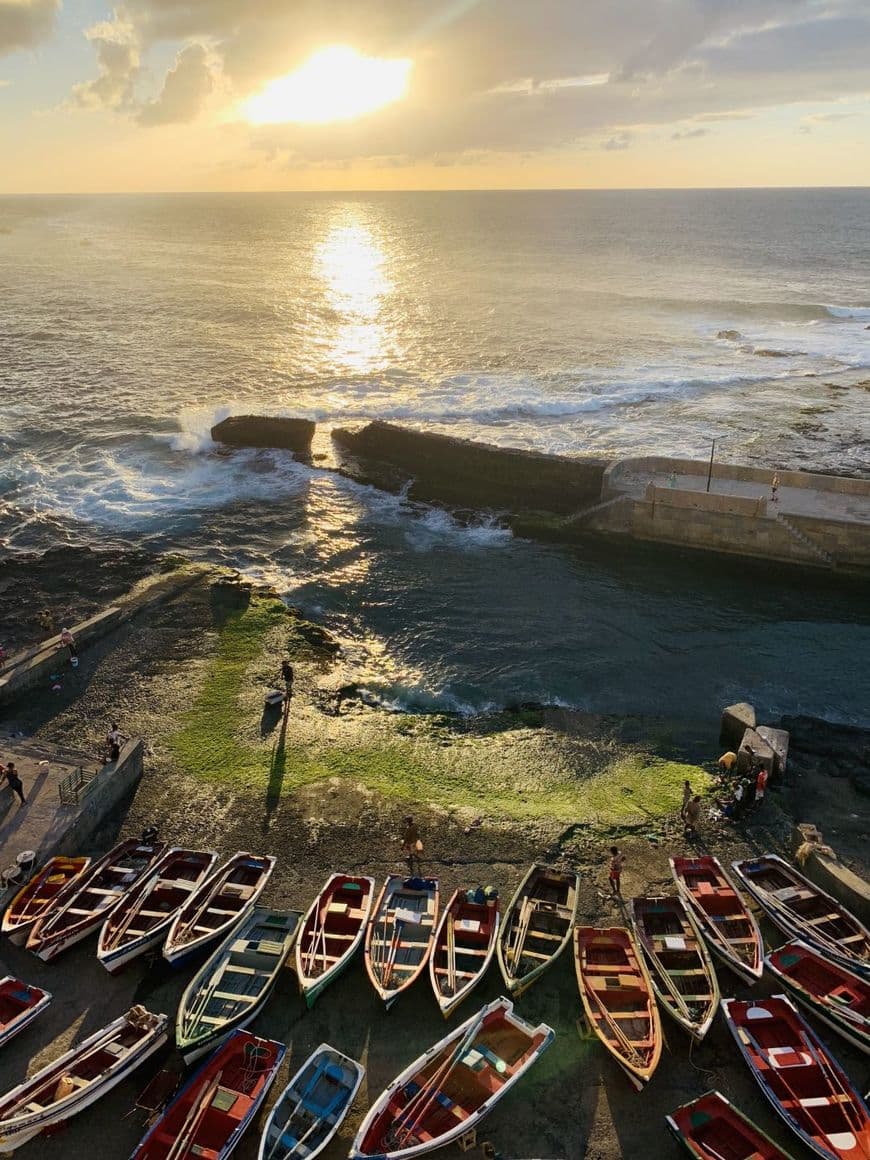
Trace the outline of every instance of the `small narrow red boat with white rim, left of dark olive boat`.
<instances>
[{"instance_id":1,"label":"small narrow red boat with white rim, left of dark olive boat","mask_svg":"<svg viewBox=\"0 0 870 1160\"><path fill-rule=\"evenodd\" d=\"M499 938L499 899L457 890L444 908L429 958L429 978L447 1018L486 974Z\"/></svg>"}]
</instances>

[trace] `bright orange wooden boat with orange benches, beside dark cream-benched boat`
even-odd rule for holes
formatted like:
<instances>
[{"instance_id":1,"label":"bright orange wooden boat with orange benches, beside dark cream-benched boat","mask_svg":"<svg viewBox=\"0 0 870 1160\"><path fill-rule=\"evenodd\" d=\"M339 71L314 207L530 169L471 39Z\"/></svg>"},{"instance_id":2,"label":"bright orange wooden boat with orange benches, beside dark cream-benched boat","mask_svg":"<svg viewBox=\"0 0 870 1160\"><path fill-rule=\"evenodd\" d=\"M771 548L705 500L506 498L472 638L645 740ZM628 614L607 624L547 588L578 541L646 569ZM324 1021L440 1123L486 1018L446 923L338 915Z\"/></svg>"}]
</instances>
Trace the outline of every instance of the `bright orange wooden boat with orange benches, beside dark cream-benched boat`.
<instances>
[{"instance_id":1,"label":"bright orange wooden boat with orange benches, beside dark cream-benched boat","mask_svg":"<svg viewBox=\"0 0 870 1160\"><path fill-rule=\"evenodd\" d=\"M574 927L574 967L589 1027L640 1090L661 1058L661 1022L631 931Z\"/></svg>"}]
</instances>

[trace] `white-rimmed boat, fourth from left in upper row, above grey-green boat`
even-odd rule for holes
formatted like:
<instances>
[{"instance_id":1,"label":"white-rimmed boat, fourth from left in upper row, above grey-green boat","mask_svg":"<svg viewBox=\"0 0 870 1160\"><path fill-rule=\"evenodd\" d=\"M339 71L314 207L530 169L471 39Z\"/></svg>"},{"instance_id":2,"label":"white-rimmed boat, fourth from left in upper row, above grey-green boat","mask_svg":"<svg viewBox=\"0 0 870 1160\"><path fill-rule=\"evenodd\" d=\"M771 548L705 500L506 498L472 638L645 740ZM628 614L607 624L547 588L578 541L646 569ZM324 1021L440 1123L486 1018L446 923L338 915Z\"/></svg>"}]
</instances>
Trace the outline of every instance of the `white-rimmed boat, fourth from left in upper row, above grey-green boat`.
<instances>
[{"instance_id":1,"label":"white-rimmed boat, fourth from left in upper row, above grey-green boat","mask_svg":"<svg viewBox=\"0 0 870 1160\"><path fill-rule=\"evenodd\" d=\"M239 850L211 873L176 912L164 943L164 958L181 966L225 938L254 906L277 858Z\"/></svg>"}]
</instances>

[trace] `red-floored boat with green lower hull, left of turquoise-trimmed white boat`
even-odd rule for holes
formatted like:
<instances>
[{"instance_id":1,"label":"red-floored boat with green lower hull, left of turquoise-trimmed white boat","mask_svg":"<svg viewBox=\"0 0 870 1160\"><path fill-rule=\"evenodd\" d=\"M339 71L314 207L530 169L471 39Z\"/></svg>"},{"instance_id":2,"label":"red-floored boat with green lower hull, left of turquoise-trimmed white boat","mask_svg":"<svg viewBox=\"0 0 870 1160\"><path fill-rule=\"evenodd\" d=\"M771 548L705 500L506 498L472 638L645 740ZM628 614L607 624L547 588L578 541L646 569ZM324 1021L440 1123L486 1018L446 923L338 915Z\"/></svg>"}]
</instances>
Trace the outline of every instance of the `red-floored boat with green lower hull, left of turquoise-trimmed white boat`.
<instances>
[{"instance_id":1,"label":"red-floored boat with green lower hull, left of turquoise-trimmed white boat","mask_svg":"<svg viewBox=\"0 0 870 1160\"><path fill-rule=\"evenodd\" d=\"M309 907L296 940L296 976L309 1007L362 947L374 901L374 878L334 873Z\"/></svg>"}]
</instances>

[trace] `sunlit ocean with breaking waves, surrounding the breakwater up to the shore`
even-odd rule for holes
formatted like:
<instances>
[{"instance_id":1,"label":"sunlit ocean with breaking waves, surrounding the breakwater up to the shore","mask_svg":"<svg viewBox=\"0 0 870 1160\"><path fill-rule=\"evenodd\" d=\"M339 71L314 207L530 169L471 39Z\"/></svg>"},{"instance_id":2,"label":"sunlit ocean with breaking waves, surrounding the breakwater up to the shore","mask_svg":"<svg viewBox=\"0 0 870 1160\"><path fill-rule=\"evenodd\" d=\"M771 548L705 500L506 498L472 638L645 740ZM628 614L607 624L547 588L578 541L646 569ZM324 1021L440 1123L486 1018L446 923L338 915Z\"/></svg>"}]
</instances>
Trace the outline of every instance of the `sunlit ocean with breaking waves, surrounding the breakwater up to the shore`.
<instances>
[{"instance_id":1,"label":"sunlit ocean with breaking waves, surrounding the breakwater up to the shore","mask_svg":"<svg viewBox=\"0 0 870 1160\"><path fill-rule=\"evenodd\" d=\"M274 582L396 708L870 720L854 586L552 549L218 419L870 470L870 190L0 198L0 537Z\"/></svg>"}]
</instances>

